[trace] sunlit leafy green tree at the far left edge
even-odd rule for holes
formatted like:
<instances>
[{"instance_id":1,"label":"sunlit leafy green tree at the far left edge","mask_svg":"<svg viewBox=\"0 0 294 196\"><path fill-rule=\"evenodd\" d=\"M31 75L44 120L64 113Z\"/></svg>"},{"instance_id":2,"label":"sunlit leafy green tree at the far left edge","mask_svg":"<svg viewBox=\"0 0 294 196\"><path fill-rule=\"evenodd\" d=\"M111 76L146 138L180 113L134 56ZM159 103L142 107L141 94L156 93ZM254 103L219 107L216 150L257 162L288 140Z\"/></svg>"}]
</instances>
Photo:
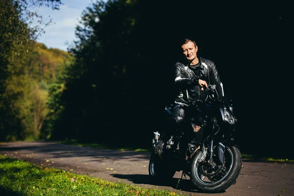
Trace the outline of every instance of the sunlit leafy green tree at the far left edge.
<instances>
[{"instance_id":1,"label":"sunlit leafy green tree at the far left edge","mask_svg":"<svg viewBox=\"0 0 294 196\"><path fill-rule=\"evenodd\" d=\"M60 4L60 0L0 0L1 140L24 139L28 135L38 138L47 93L39 84L32 57L37 50L35 39L43 28L29 27L29 23L37 17L42 24L42 16L27 8L45 5L58 9ZM51 79L54 71L50 72Z\"/></svg>"}]
</instances>

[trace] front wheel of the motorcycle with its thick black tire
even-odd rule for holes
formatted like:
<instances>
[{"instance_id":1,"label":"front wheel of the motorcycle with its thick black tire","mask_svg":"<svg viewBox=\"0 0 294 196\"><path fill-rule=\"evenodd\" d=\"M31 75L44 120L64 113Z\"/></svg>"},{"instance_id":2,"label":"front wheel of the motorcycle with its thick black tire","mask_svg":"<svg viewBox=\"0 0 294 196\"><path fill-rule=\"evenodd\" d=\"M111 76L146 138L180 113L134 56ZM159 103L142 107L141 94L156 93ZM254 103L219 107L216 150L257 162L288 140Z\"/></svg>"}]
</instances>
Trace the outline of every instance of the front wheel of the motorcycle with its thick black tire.
<instances>
[{"instance_id":1,"label":"front wheel of the motorcycle with its thick black tire","mask_svg":"<svg viewBox=\"0 0 294 196\"><path fill-rule=\"evenodd\" d=\"M224 151L224 167L217 168L216 175L209 173L209 165L198 159L202 154L198 150L191 162L191 180L199 191L205 193L220 193L235 184L242 167L241 152L237 147L227 146ZM205 171L204 171L205 170ZM208 173L208 174L207 174ZM201 179L202 177L202 179Z\"/></svg>"}]
</instances>

